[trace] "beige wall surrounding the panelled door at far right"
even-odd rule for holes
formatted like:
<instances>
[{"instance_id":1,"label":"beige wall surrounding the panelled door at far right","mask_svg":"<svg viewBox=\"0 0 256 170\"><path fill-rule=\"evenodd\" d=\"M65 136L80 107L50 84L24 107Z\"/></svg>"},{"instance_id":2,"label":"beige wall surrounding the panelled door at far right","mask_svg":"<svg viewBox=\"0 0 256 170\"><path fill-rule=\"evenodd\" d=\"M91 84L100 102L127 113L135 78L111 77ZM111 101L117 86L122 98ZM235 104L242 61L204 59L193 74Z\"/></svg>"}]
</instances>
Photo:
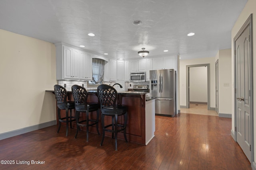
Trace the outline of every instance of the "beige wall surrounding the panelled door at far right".
<instances>
[{"instance_id":1,"label":"beige wall surrounding the panelled door at far right","mask_svg":"<svg viewBox=\"0 0 256 170\"><path fill-rule=\"evenodd\" d=\"M236 34L238 33L238 31L240 30L240 28L242 27L242 25L245 23L245 21L247 20L247 18L250 16L250 14L253 14L253 75L255 77L256 75L256 0L248 0L246 6L244 7L244 9L242 10L240 16L238 17L236 23L234 24L234 27L232 28L232 31L231 31L231 41L232 41L232 56L234 56L234 37L236 36ZM232 57L232 131L234 132L234 57ZM253 96L254 96L254 103L253 103L253 106L254 106L254 158L256 156L256 126L255 126L255 123L256 123L256 116L255 116L255 113L256 113L256 78L254 78L253 80Z\"/></svg>"}]
</instances>

